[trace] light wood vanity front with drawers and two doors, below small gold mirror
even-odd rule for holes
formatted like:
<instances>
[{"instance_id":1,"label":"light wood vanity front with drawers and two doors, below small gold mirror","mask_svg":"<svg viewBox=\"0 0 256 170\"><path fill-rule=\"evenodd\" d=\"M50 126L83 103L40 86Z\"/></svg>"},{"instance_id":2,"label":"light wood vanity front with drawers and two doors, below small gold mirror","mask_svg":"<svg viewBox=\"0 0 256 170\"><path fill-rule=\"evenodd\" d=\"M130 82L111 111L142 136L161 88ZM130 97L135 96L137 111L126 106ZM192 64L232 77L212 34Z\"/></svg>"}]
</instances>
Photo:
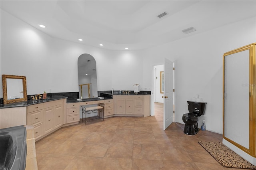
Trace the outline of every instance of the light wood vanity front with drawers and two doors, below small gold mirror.
<instances>
[{"instance_id":1,"label":"light wood vanity front with drawers and two doors, below small gold mirror","mask_svg":"<svg viewBox=\"0 0 256 170\"><path fill-rule=\"evenodd\" d=\"M27 107L27 125L34 127L36 141L62 127L65 101L60 99Z\"/></svg>"}]
</instances>

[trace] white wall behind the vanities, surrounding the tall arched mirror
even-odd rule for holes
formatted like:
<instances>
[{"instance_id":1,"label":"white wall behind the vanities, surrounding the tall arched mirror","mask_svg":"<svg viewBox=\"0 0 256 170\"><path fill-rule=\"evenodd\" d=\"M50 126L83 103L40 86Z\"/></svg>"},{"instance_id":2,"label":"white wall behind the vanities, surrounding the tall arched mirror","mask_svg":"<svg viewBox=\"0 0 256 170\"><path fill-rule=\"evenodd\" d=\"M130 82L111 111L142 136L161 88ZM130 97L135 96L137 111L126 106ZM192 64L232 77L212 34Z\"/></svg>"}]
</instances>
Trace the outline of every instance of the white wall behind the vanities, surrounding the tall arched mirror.
<instances>
[{"instance_id":1,"label":"white wall behind the vanities, surrounding the tall arched mirror","mask_svg":"<svg viewBox=\"0 0 256 170\"><path fill-rule=\"evenodd\" d=\"M132 90L133 84L143 83L140 51L110 51L52 38L1 9L1 75L26 76L28 95L78 91L77 60L83 53L96 60L99 91ZM2 79L0 84L2 97Z\"/></svg>"}]
</instances>

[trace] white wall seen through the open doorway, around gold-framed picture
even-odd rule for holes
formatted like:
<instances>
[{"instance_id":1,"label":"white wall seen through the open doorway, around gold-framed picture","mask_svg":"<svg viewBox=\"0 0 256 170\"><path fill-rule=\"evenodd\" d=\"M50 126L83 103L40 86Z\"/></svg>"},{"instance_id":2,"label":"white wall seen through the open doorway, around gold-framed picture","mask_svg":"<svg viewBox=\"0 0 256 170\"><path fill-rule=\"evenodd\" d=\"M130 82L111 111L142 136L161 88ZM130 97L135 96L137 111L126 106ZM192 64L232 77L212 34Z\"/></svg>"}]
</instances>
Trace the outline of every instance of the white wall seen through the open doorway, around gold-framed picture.
<instances>
[{"instance_id":1,"label":"white wall seen through the open doorway, around gold-framed picture","mask_svg":"<svg viewBox=\"0 0 256 170\"><path fill-rule=\"evenodd\" d=\"M154 66L154 101L158 103L164 103L164 98L162 98L164 94L160 93L160 71L164 71L164 65Z\"/></svg>"}]
</instances>

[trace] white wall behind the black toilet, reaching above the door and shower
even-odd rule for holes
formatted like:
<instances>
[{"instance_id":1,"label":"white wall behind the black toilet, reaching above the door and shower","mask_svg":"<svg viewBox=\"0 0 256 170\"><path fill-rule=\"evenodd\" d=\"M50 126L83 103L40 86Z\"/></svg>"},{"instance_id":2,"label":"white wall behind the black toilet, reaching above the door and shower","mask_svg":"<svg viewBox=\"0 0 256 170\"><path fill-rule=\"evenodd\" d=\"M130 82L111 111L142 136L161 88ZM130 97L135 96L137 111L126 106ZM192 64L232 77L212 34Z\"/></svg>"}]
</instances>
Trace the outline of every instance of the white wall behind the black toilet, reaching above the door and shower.
<instances>
[{"instance_id":1,"label":"white wall behind the black toilet, reaching above the door and shower","mask_svg":"<svg viewBox=\"0 0 256 170\"><path fill-rule=\"evenodd\" d=\"M176 122L183 123L186 101L199 94L207 105L198 125L205 120L207 130L222 133L222 55L256 42L255 30L253 17L144 51L144 72L164 63L164 57L175 62ZM152 83L150 75L143 79Z\"/></svg>"}]
</instances>

